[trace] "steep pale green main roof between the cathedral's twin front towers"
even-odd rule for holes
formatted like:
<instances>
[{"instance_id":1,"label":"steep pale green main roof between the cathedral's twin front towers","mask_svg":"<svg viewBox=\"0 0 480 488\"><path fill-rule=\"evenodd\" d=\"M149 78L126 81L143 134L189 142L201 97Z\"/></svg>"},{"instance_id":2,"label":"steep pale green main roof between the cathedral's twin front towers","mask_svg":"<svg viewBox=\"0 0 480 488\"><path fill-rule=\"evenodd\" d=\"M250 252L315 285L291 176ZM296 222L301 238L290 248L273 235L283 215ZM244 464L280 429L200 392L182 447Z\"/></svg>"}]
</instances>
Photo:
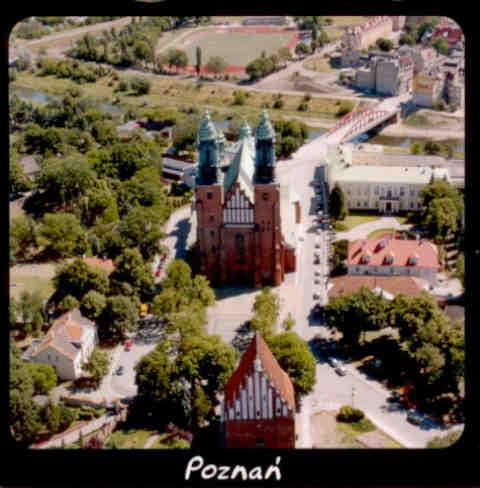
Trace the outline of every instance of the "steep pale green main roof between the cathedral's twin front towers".
<instances>
[{"instance_id":1,"label":"steep pale green main roof between the cathedral's twin front towers","mask_svg":"<svg viewBox=\"0 0 480 488\"><path fill-rule=\"evenodd\" d=\"M237 143L238 148L232 158L224 179L224 188L230 190L238 181L245 196L253 203L253 177L255 174L255 147L253 138L245 137Z\"/></svg>"}]
</instances>

